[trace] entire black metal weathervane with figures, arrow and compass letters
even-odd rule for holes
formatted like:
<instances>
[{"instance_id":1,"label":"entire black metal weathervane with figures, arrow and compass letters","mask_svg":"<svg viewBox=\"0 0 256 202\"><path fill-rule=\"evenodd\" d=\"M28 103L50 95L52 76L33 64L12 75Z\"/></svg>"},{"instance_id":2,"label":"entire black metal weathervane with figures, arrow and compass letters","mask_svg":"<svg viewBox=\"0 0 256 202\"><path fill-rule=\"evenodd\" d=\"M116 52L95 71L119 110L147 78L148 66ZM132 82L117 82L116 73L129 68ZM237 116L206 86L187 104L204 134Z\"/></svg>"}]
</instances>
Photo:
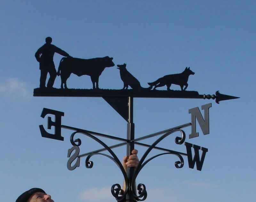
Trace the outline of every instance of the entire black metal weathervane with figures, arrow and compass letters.
<instances>
[{"instance_id":1,"label":"entire black metal weathervane with figures, arrow and compass letters","mask_svg":"<svg viewBox=\"0 0 256 202\"><path fill-rule=\"evenodd\" d=\"M220 101L236 99L238 97L220 94L219 91L215 95L210 94L198 94L196 91L187 91L188 87L188 77L194 75L195 73L190 70L189 67L186 67L185 70L178 74L166 75L162 78L157 79L154 82L149 82L148 88L144 88L140 85L138 79L136 79L129 71L126 69L126 64L117 65L117 69L120 71L120 77L124 83L123 89L120 90L109 90L109 89L100 89L99 88L99 77L106 67L113 67L113 57L99 57L92 59L80 59L74 58L68 55L65 51L59 49L58 47L51 44L52 38L47 37L46 43L36 51L36 60L40 63L40 87L34 89L34 96L59 96L59 97L102 97L105 101L108 102L126 121L127 121L127 138L114 137L106 134L101 134L98 132L87 131L84 129L74 128L71 126L66 126L61 124L61 117L64 116L64 112L44 108L41 114L41 117L47 115L53 115L55 121L52 121L51 117L48 116L47 128L55 128L53 134L48 133L43 125L40 125L40 132L42 137L52 138L56 140L64 140L64 137L61 136L61 128L74 131L70 136L70 142L72 147L68 149L68 162L67 167L69 170L74 170L80 166L80 160L83 157L85 159L85 167L92 168L93 161L90 161L93 155L103 155L111 159L116 163L120 168L125 181L125 190L122 190L120 184L114 184L111 187L111 193L116 198L117 201L143 201L147 198L146 186L142 183L139 183L136 187L135 181L140 173L141 169L151 160L155 159L158 156L164 154L173 154L178 157L178 161L175 162L176 168L182 168L184 165L183 156L188 158L188 167L194 168L196 165L197 170L201 170L204 158L208 152L207 148L190 144L185 142L186 134L182 130L185 127L191 127L191 134L189 138L198 137L199 134L196 132L196 120L199 123L203 134L209 134L209 108L212 104L205 104L202 106L204 110L204 118L198 107L189 109L188 112L191 114L191 123L183 124L176 126L164 131L156 132L144 137L135 138L134 135L134 123L133 123L133 98L197 98L197 99L215 99L216 103ZM58 71L55 70L53 63L54 53L59 53L63 56L60 60ZM45 80L47 74L50 74L50 79L47 86L45 86ZM67 79L71 73L76 74L77 76L88 75L92 80L92 89L68 89ZM53 88L54 80L56 76L60 76L61 85L60 89ZM179 85L181 90L171 90L170 87L172 84ZM129 86L131 89L128 89ZM158 87L166 86L167 90L156 90ZM154 88L153 88L154 87ZM151 90L153 88L153 90ZM185 145L187 153L182 153L178 151L173 151L166 148L157 147L157 144L161 142L167 136L173 133L179 133L180 135L175 138L175 144ZM75 138L76 134L83 134L87 137L90 137L100 143L103 148L95 150L89 153L80 154L79 147L82 144L81 139ZM160 136L152 145L143 144L140 141ZM121 143L108 146L103 141L97 137L110 138L120 141ZM126 145L127 155L131 155L134 145L140 145L148 147L147 151L143 154L140 159L140 163L137 168L127 168L125 172L122 163L117 158L116 154L112 151L113 148ZM194 149L194 156L192 154L192 147ZM148 154L152 149L157 149L162 151L156 156L153 156L146 160ZM102 153L108 151L109 155ZM201 150L201 158L199 155L199 150ZM73 164L73 165L71 165Z\"/></svg>"}]
</instances>

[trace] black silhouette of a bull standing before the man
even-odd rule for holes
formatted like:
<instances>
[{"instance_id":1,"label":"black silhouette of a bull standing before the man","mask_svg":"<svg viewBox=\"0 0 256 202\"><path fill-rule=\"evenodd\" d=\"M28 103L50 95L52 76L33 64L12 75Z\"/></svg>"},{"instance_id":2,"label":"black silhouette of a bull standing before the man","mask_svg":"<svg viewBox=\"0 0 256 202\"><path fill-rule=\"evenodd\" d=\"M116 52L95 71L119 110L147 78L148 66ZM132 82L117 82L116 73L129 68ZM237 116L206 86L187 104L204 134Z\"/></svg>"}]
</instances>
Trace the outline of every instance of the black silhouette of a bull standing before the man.
<instances>
[{"instance_id":1,"label":"black silhouette of a bull standing before the man","mask_svg":"<svg viewBox=\"0 0 256 202\"><path fill-rule=\"evenodd\" d=\"M63 57L60 60L57 75L61 78L61 88L63 85L67 87L67 79L70 74L77 76L88 75L91 76L93 89L99 89L99 77L106 67L113 67L113 57L98 57L92 59L80 59L74 57ZM95 86L96 84L96 86Z\"/></svg>"}]
</instances>

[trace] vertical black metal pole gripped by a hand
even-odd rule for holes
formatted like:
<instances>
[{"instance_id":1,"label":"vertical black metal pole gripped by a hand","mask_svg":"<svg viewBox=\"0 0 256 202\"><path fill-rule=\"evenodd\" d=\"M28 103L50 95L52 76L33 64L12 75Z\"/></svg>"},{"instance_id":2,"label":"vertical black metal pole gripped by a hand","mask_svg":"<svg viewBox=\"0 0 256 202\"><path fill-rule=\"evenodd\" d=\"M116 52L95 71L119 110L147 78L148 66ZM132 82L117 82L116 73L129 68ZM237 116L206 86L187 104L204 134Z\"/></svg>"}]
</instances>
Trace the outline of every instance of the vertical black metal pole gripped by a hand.
<instances>
[{"instance_id":1,"label":"vertical black metal pole gripped by a hand","mask_svg":"<svg viewBox=\"0 0 256 202\"><path fill-rule=\"evenodd\" d=\"M128 123L127 123L127 156L132 154L132 150L134 149L134 123L133 123L133 97L128 97ZM126 174L128 177L128 193L126 194L126 201L132 202L134 201L134 197L132 195L132 177L134 173L134 168L127 168Z\"/></svg>"}]
</instances>

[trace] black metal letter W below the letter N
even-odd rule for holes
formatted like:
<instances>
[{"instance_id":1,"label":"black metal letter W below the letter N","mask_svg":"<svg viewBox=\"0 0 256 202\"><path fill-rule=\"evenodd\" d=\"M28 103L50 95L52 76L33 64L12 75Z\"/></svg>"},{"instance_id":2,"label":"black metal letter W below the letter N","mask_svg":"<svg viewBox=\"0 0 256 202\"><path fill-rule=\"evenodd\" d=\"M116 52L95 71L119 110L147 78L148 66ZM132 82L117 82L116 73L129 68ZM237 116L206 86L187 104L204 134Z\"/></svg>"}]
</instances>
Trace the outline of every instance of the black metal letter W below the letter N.
<instances>
[{"instance_id":1,"label":"black metal letter W below the letter N","mask_svg":"<svg viewBox=\"0 0 256 202\"><path fill-rule=\"evenodd\" d=\"M187 154L188 154L188 167L189 168L194 168L195 164L196 164L196 169L197 170L202 170L205 154L206 154L206 152L208 152L208 149L204 148L204 147L197 146L197 145L192 145L188 142L185 142L185 146L186 146ZM194 158L192 158L192 151L191 151L192 146L193 146L194 152L195 152ZM202 156L201 156L201 159L199 157L199 150L200 149L203 152Z\"/></svg>"}]
</instances>

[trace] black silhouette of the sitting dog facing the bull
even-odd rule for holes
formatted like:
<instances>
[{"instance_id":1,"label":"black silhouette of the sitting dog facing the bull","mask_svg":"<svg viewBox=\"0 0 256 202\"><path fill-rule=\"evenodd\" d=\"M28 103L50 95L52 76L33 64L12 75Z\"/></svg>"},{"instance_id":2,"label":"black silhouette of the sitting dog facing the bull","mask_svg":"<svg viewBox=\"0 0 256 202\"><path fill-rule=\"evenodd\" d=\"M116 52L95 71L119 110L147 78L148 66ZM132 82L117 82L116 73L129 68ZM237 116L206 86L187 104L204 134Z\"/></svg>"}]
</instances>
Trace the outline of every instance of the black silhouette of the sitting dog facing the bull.
<instances>
[{"instance_id":1,"label":"black silhouette of the sitting dog facing the bull","mask_svg":"<svg viewBox=\"0 0 256 202\"><path fill-rule=\"evenodd\" d=\"M138 79L136 79L129 71L127 71L125 63L117 64L117 69L120 70L120 77L124 82L123 89L128 89L128 86L131 86L132 89L143 89L143 87L140 86L140 82L138 81Z\"/></svg>"}]
</instances>

